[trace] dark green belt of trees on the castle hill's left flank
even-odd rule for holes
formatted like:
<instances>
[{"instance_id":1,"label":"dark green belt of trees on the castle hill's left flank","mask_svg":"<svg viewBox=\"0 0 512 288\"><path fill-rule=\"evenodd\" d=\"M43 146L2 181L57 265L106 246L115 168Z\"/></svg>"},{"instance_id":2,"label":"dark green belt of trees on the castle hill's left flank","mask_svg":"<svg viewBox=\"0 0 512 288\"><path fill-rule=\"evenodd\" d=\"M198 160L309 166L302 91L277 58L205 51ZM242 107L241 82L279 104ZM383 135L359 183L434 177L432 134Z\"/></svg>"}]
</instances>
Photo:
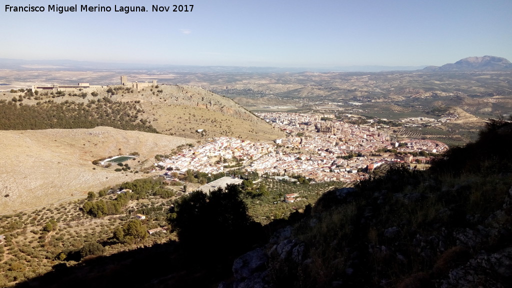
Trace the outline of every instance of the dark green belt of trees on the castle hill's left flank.
<instances>
[{"instance_id":1,"label":"dark green belt of trees on the castle hill's left flank","mask_svg":"<svg viewBox=\"0 0 512 288\"><path fill-rule=\"evenodd\" d=\"M0 130L77 129L108 126L122 130L157 133L144 111L133 102L117 102L103 97L89 102L54 100L36 105L0 101Z\"/></svg>"}]
</instances>

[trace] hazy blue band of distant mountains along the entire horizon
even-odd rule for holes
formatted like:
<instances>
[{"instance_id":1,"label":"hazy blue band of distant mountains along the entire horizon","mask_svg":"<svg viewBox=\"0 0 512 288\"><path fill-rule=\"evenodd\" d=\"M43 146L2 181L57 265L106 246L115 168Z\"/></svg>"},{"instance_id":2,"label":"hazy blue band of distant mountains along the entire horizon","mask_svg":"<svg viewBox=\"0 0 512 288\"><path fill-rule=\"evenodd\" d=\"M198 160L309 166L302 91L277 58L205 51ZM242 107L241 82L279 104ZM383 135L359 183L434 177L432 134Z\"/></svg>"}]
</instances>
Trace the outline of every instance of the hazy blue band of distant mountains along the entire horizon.
<instances>
[{"instance_id":1,"label":"hazy blue band of distant mountains along the entire horizon","mask_svg":"<svg viewBox=\"0 0 512 288\"><path fill-rule=\"evenodd\" d=\"M496 56L467 57L443 66L337 66L328 68L311 67L243 67L243 66L194 66L157 65L137 63L100 63L76 60L22 60L0 58L0 68L11 70L139 70L170 71L184 73L299 73L299 72L383 72L383 71L423 71L423 72L471 72L471 71L512 71L512 63Z\"/></svg>"}]
</instances>

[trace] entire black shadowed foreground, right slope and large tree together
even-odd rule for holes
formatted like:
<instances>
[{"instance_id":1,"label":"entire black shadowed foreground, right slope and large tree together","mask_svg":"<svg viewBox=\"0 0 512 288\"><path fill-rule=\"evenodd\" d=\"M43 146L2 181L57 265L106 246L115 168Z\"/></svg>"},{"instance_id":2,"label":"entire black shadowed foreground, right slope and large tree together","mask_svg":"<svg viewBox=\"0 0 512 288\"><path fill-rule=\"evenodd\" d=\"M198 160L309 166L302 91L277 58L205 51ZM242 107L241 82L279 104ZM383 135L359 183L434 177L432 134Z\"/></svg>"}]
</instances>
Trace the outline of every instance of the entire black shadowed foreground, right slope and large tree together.
<instances>
[{"instance_id":1,"label":"entire black shadowed foreground, right slope and large tree together","mask_svg":"<svg viewBox=\"0 0 512 288\"><path fill-rule=\"evenodd\" d=\"M264 226L247 216L238 186L194 192L168 214L179 242L59 264L18 286L216 287L233 280L234 258L263 245L270 258L261 277L271 287L435 287L455 277L454 269L468 273L469 286L507 287L508 260L464 270L512 246L512 154L505 147L512 147L512 124L493 120L479 141L439 156L430 170L391 166ZM290 238L265 244L288 225ZM460 283L445 286L468 286Z\"/></svg>"}]
</instances>

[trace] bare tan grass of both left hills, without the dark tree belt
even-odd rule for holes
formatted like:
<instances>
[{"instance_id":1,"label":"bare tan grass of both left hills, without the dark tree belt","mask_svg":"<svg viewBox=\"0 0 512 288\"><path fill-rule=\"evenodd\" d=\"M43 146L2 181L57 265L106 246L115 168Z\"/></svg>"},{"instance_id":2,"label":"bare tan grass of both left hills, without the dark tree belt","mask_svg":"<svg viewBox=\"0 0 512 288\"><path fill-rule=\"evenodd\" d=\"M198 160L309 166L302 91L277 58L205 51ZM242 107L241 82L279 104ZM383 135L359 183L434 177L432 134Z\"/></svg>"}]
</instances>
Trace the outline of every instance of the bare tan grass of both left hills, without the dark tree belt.
<instances>
[{"instance_id":1,"label":"bare tan grass of both left hills, without the dark tree belt","mask_svg":"<svg viewBox=\"0 0 512 288\"><path fill-rule=\"evenodd\" d=\"M3 147L0 214L84 197L88 191L143 177L146 174L133 172L151 166L155 154L169 153L181 144L195 143L194 139L231 136L265 141L284 136L231 99L198 87L160 85L141 91L121 86L112 88L110 92L99 89L95 96L84 93L82 97L78 91L68 91L41 92L37 97L30 97L18 92L2 93L0 98L11 102L13 97L23 97L23 102L14 101L14 105L35 105L37 101L46 100L88 104L100 98L130 102L140 110L141 122L150 123L160 133L188 139L107 127L0 131ZM198 129L205 132L197 133ZM132 167L129 172L115 172L114 168L92 164L94 159L130 152L138 152L140 157L129 161Z\"/></svg>"}]
</instances>

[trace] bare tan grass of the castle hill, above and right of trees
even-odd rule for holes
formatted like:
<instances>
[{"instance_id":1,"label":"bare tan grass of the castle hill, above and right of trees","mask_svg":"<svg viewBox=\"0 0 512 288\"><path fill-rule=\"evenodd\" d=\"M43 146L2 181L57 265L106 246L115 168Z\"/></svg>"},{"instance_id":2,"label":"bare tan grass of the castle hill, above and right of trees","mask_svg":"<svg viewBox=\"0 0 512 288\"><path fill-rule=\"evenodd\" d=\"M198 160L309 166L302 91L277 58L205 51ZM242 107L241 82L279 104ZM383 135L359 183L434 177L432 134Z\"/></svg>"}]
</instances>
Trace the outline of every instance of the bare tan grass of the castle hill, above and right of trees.
<instances>
[{"instance_id":1,"label":"bare tan grass of the castle hill, above and right of trees","mask_svg":"<svg viewBox=\"0 0 512 288\"><path fill-rule=\"evenodd\" d=\"M141 113L137 117L145 119L160 133L180 137L204 139L209 137L239 137L255 141L267 141L284 137L285 134L272 128L264 120L253 115L233 100L193 86L158 85L146 87L140 91L122 86L112 86L114 93L108 89L98 89L98 95L86 93L79 97L78 91L68 91L60 95L51 92L39 93L35 97L23 99L21 104L34 105L37 101L52 100L56 103L65 101L84 102L106 97L114 102L130 102ZM46 95L46 93L49 93ZM24 93L2 93L0 100L11 101L13 97ZM118 113L118 112L116 112ZM133 111L132 111L133 114ZM205 129L206 134L196 133Z\"/></svg>"}]
</instances>

